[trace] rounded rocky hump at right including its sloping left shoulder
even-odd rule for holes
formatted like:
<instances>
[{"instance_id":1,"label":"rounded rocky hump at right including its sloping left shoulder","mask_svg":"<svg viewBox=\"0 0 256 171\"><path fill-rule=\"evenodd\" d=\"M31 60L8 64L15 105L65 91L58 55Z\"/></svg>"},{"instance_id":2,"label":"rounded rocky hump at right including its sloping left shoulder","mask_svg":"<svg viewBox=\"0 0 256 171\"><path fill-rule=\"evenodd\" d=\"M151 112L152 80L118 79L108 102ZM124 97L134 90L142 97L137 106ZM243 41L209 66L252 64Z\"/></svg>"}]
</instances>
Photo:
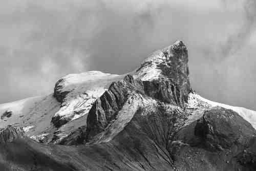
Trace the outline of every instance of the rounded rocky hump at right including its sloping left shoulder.
<instances>
[{"instance_id":1,"label":"rounded rocky hump at right including its sloping left shoulder","mask_svg":"<svg viewBox=\"0 0 256 171\"><path fill-rule=\"evenodd\" d=\"M231 148L233 144L246 146L254 135L251 124L236 112L215 107L204 111L200 119L179 131L175 140L217 151Z\"/></svg>"}]
</instances>

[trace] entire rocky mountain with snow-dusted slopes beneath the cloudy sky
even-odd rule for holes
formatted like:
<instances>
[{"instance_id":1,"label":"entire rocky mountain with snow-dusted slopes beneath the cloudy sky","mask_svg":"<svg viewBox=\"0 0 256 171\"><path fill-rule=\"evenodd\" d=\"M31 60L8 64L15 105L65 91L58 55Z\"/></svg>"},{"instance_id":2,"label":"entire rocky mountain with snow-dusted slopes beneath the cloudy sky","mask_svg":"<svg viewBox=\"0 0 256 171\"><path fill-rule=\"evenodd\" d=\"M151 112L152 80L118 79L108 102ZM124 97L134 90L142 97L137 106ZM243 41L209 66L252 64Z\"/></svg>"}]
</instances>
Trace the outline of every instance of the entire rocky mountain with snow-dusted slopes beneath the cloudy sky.
<instances>
[{"instance_id":1,"label":"entire rocky mountain with snow-dusted slopes beneath the cloudy sky","mask_svg":"<svg viewBox=\"0 0 256 171\"><path fill-rule=\"evenodd\" d=\"M0 112L2 170L256 169L256 112L196 94L182 41L128 74L70 74Z\"/></svg>"}]
</instances>

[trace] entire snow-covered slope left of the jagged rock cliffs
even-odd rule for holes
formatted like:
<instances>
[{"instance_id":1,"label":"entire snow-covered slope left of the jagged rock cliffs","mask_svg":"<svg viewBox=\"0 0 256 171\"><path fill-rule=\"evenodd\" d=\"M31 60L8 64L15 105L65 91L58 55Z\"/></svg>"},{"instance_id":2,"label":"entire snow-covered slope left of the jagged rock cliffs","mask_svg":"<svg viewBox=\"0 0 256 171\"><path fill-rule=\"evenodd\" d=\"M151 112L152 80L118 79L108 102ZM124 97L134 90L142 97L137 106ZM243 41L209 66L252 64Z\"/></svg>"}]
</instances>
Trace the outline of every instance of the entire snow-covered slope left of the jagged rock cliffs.
<instances>
[{"instance_id":1,"label":"entire snow-covered slope left of the jagged rock cliffs","mask_svg":"<svg viewBox=\"0 0 256 171\"><path fill-rule=\"evenodd\" d=\"M65 137L86 124L93 102L113 81L122 77L100 71L69 74L56 83L58 92L67 92L62 102L50 94L0 104L0 115L3 115L0 127L22 126L28 136L38 141L48 141L54 136L55 139ZM11 115L5 115L6 112L11 112ZM58 126L54 124L54 121L61 120L66 122Z\"/></svg>"}]
</instances>

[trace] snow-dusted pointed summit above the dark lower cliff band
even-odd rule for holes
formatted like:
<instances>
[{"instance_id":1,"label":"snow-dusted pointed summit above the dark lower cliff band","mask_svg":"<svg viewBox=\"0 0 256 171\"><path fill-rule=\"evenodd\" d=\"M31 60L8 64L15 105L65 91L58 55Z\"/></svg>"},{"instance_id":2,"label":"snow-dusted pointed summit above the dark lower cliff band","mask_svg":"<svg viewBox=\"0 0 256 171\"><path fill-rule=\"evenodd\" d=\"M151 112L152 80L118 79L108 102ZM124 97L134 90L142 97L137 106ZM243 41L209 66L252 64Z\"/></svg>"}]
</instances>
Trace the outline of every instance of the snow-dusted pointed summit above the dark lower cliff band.
<instances>
[{"instance_id":1,"label":"snow-dusted pointed summit above the dark lower cliff band","mask_svg":"<svg viewBox=\"0 0 256 171\"><path fill-rule=\"evenodd\" d=\"M142 81L164 80L171 82L180 98L187 101L191 92L188 70L188 52L183 41L154 52L136 70L135 77ZM182 102L182 103L183 103Z\"/></svg>"}]
</instances>

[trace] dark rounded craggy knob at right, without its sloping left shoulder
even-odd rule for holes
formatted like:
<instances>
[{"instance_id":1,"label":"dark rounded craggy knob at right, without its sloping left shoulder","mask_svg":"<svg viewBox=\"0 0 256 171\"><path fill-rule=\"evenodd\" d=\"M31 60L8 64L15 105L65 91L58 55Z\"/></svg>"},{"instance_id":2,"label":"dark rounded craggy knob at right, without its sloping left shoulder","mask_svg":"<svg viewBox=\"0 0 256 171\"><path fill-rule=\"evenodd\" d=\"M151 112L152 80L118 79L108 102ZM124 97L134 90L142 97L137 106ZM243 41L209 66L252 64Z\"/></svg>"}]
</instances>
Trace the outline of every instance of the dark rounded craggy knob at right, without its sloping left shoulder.
<instances>
[{"instance_id":1,"label":"dark rounded craggy knob at right, without its sloping left shoulder","mask_svg":"<svg viewBox=\"0 0 256 171\"><path fill-rule=\"evenodd\" d=\"M248 144L253 127L232 110L215 108L205 111L197 121L195 136L206 148L230 148L233 144Z\"/></svg>"}]
</instances>

